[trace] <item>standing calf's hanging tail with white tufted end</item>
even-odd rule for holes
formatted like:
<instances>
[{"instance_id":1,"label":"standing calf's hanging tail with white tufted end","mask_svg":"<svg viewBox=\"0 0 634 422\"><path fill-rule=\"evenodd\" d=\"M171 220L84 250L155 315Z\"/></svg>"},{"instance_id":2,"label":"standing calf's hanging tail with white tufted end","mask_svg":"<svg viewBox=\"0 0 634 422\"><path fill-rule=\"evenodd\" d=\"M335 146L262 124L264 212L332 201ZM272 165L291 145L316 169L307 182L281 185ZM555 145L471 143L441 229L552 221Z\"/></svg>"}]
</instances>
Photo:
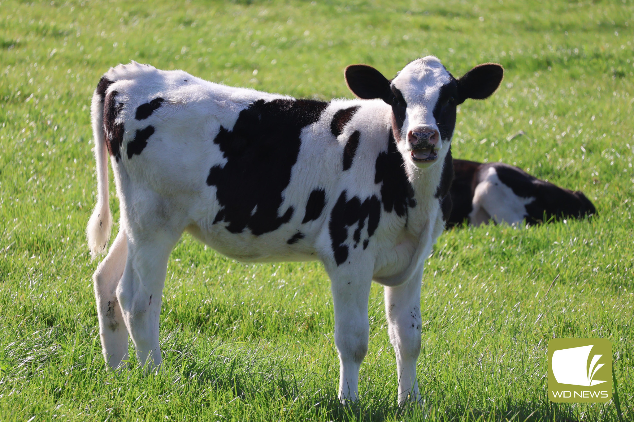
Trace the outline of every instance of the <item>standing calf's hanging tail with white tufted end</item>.
<instances>
[{"instance_id":1,"label":"standing calf's hanging tail with white tufted end","mask_svg":"<svg viewBox=\"0 0 634 422\"><path fill-rule=\"evenodd\" d=\"M97 204L88 221L86 235L88 247L93 256L106 251L112 228L112 214L108 202L108 149L103 127L103 98L105 89L101 86L103 78L93 94L91 116L93 121L94 158L97 167ZM108 81L109 82L109 81Z\"/></svg>"}]
</instances>

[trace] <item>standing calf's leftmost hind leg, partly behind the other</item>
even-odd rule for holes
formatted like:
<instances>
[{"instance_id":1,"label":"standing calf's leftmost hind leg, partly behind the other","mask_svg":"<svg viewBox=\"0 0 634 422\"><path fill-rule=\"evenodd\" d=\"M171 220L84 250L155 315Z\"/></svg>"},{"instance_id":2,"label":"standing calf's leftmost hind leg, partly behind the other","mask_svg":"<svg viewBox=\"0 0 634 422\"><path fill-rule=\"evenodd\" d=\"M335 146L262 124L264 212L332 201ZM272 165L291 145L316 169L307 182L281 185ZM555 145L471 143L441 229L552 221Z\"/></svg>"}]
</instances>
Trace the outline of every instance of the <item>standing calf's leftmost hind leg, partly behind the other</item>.
<instances>
[{"instance_id":1,"label":"standing calf's leftmost hind leg, partly behind the other","mask_svg":"<svg viewBox=\"0 0 634 422\"><path fill-rule=\"evenodd\" d=\"M112 368L117 368L121 361L127 360L127 328L116 293L126 267L126 258L126 231L121 229L108 255L93 275L103 357Z\"/></svg>"}]
</instances>

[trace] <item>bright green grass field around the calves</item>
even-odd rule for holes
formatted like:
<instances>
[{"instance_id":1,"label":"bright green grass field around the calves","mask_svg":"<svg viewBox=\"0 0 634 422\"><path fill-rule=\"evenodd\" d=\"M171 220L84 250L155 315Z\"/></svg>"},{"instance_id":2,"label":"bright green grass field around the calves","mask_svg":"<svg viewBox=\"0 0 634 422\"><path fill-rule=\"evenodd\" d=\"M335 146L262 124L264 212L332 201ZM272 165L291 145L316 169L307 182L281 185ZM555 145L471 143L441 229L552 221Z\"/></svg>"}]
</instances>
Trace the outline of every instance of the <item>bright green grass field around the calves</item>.
<instances>
[{"instance_id":1,"label":"bright green grass field around the calves","mask_svg":"<svg viewBox=\"0 0 634 422\"><path fill-rule=\"evenodd\" d=\"M174 3L0 0L0 420L634 420L631 0ZM491 99L460 106L456 158L583 190L600 215L441 235L423 279L422 406L396 406L380 286L362 398L342 407L323 267L242 264L188 235L167 270L164 370L105 369L84 227L89 104L109 66L330 99L352 97L346 65L393 75L427 54L456 76L506 69ZM548 400L560 337L611 340L619 403Z\"/></svg>"}]
</instances>

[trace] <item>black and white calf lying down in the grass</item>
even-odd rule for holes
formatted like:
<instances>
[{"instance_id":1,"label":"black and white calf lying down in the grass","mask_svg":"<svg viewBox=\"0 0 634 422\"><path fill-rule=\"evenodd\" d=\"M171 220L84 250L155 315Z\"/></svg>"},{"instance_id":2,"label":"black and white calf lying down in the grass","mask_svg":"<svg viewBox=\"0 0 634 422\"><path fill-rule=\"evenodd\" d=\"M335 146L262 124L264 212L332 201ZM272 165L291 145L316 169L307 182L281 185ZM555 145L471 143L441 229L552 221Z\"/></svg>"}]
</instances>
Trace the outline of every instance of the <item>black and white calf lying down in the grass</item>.
<instances>
[{"instance_id":1,"label":"black and white calf lying down in the grass","mask_svg":"<svg viewBox=\"0 0 634 422\"><path fill-rule=\"evenodd\" d=\"M493 221L522 227L523 221L534 225L597 213L583 192L560 188L508 164L454 159L453 169L448 225L467 220L475 226Z\"/></svg>"}]
</instances>

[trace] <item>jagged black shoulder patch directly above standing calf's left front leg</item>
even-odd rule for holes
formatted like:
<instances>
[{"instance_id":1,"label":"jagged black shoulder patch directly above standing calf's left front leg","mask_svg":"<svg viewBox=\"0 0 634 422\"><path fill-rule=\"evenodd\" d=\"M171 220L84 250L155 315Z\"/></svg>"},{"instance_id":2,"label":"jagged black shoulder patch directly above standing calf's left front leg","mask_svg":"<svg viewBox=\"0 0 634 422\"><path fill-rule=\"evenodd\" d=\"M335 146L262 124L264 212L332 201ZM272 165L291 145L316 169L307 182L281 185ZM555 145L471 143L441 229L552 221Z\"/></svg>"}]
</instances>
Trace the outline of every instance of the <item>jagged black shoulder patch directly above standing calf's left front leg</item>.
<instances>
[{"instance_id":1,"label":"jagged black shoulder patch directly above standing calf's left front leg","mask_svg":"<svg viewBox=\"0 0 634 422\"><path fill-rule=\"evenodd\" d=\"M381 202L375 195L367 197L363 202L356 196L347 201L346 190L341 192L330 213L330 221L328 221L332 252L337 265L344 263L348 258L348 246L345 244L348 238L348 228L356 225L356 230L353 233L353 247L357 247L361 241L361 232L365 227L365 221L368 220L368 238L363 241L363 249L365 249L370 237L377 230L380 215Z\"/></svg>"}]
</instances>

